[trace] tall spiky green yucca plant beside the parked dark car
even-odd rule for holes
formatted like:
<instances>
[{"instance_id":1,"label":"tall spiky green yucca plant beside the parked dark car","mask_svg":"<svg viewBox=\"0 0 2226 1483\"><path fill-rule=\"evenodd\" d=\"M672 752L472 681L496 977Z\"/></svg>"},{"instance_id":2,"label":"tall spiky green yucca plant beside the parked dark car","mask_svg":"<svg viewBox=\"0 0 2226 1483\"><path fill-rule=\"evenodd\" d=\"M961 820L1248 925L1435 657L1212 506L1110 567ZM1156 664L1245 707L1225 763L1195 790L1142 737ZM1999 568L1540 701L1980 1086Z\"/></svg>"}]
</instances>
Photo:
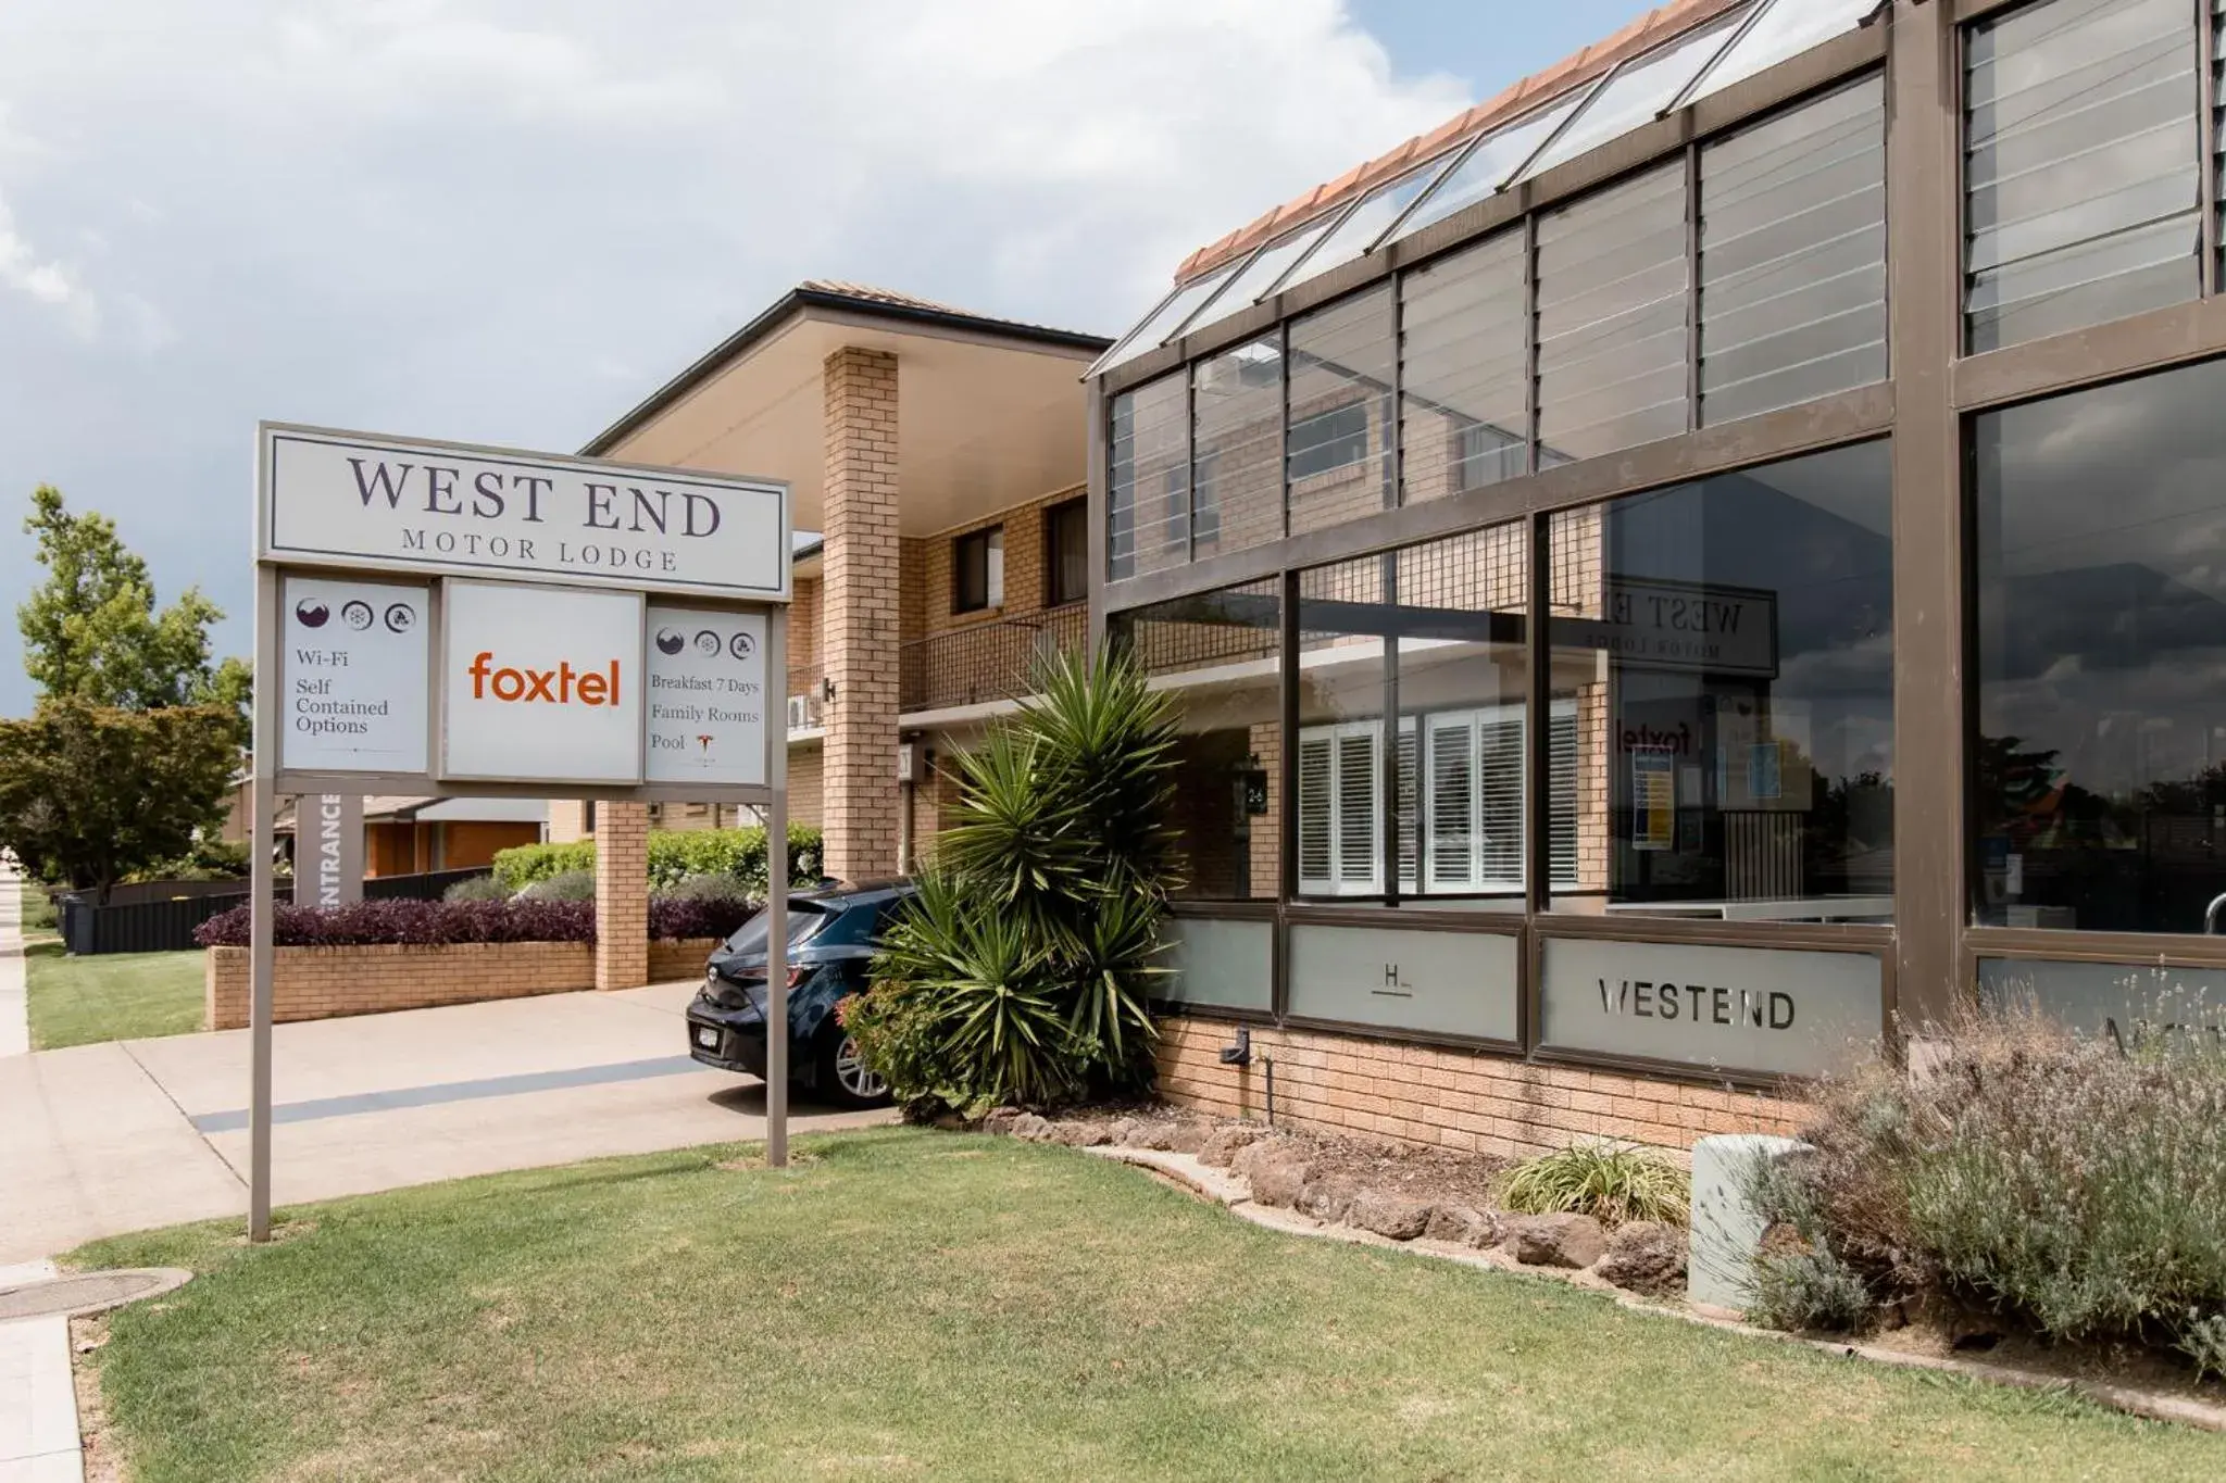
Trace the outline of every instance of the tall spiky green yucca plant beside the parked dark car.
<instances>
[{"instance_id":1,"label":"tall spiky green yucca plant beside the parked dark car","mask_svg":"<svg viewBox=\"0 0 2226 1483\"><path fill-rule=\"evenodd\" d=\"M1173 707L1126 656L1053 656L957 754L957 823L844 1025L899 1098L977 1112L1151 1078L1173 878Z\"/></svg>"}]
</instances>

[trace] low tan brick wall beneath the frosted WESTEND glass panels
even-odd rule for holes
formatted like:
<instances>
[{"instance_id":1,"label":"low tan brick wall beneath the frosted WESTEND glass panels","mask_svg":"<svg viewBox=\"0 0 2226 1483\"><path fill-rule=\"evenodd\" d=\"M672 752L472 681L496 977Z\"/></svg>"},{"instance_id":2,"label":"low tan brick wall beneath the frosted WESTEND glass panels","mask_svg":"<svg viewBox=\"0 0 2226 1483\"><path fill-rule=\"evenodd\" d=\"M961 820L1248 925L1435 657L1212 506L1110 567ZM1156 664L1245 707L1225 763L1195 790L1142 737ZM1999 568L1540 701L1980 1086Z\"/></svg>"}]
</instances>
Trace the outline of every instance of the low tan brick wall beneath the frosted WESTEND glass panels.
<instances>
[{"instance_id":1,"label":"low tan brick wall beneath the frosted WESTEND glass panels","mask_svg":"<svg viewBox=\"0 0 2226 1483\"><path fill-rule=\"evenodd\" d=\"M1218 1116L1264 1116L1267 1056L1278 1123L1509 1158L1583 1138L1690 1149L1703 1134L1790 1134L1803 1114L1801 1103L1754 1092L1316 1029L1253 1025L1253 1063L1222 1065L1233 1034L1224 1021L1160 1021L1160 1096Z\"/></svg>"}]
</instances>

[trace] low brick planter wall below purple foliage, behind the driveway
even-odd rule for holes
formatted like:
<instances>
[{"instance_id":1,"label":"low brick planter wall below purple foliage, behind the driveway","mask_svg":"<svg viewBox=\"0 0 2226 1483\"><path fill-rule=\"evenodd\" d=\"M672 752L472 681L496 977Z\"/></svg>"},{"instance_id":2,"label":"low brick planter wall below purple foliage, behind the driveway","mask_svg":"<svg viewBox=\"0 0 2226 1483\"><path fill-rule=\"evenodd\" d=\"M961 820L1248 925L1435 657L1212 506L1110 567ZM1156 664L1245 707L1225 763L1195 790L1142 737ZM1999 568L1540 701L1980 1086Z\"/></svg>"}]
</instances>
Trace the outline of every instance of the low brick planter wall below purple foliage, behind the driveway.
<instances>
[{"instance_id":1,"label":"low brick planter wall below purple foliage, behind the driveway","mask_svg":"<svg viewBox=\"0 0 2226 1483\"><path fill-rule=\"evenodd\" d=\"M652 943L652 983L701 978L715 945L715 938ZM245 947L207 949L203 985L209 1029L247 1025ZM280 947L272 965L272 1016L325 1021L592 987L592 943Z\"/></svg>"}]
</instances>

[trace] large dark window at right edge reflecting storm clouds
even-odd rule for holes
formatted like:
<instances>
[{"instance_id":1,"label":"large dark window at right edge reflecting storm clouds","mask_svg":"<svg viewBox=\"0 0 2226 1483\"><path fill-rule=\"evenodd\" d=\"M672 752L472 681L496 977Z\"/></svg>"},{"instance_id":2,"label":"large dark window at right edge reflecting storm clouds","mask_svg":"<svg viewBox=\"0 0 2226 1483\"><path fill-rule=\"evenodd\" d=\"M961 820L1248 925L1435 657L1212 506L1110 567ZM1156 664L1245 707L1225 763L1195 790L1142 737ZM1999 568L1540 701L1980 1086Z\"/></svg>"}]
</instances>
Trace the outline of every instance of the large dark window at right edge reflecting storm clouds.
<instances>
[{"instance_id":1,"label":"large dark window at right edge reflecting storm clouds","mask_svg":"<svg viewBox=\"0 0 2226 1483\"><path fill-rule=\"evenodd\" d=\"M1974 418L1977 920L2226 892L2226 362Z\"/></svg>"}]
</instances>

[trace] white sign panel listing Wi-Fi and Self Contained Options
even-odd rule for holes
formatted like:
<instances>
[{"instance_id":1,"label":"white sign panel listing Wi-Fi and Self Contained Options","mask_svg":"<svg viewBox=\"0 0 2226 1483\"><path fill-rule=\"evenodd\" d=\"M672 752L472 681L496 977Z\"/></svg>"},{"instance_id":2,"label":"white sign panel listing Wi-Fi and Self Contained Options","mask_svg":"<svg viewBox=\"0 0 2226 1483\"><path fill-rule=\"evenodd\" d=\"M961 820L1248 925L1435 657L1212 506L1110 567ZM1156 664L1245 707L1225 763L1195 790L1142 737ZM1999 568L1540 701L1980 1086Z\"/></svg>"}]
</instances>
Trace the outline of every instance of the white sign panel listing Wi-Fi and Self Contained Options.
<instances>
[{"instance_id":1,"label":"white sign panel listing Wi-Fi and Self Contained Options","mask_svg":"<svg viewBox=\"0 0 2226 1483\"><path fill-rule=\"evenodd\" d=\"M425 772L425 589L289 576L278 600L278 765Z\"/></svg>"}]
</instances>

